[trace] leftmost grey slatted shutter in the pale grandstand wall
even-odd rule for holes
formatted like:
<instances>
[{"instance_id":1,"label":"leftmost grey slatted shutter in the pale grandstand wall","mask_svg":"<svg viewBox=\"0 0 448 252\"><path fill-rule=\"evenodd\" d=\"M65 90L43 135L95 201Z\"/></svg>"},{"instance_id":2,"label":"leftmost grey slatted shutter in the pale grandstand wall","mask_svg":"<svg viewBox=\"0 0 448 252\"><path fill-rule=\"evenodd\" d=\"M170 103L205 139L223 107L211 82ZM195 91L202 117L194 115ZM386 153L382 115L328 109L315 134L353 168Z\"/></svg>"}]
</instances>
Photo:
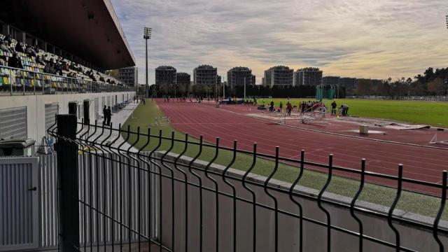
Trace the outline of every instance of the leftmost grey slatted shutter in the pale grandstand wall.
<instances>
[{"instance_id":1,"label":"leftmost grey slatted shutter in the pale grandstand wall","mask_svg":"<svg viewBox=\"0 0 448 252\"><path fill-rule=\"evenodd\" d=\"M27 138L27 107L0 109L0 138Z\"/></svg>"}]
</instances>

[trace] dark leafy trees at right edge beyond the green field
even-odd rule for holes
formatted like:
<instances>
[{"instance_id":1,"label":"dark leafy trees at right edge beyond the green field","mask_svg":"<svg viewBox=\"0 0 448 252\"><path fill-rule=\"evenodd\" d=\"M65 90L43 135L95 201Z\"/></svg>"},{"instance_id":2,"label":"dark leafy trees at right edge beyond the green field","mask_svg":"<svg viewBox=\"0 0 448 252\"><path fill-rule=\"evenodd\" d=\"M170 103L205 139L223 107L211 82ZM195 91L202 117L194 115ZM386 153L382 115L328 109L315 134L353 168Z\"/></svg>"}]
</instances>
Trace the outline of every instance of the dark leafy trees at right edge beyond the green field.
<instances>
[{"instance_id":1,"label":"dark leafy trees at right edge beyond the green field","mask_svg":"<svg viewBox=\"0 0 448 252\"><path fill-rule=\"evenodd\" d=\"M448 68L428 68L423 75L414 78L388 78L381 83L358 79L356 90L347 90L347 95L377 95L399 99L402 96L443 96L448 94Z\"/></svg>"}]
</instances>

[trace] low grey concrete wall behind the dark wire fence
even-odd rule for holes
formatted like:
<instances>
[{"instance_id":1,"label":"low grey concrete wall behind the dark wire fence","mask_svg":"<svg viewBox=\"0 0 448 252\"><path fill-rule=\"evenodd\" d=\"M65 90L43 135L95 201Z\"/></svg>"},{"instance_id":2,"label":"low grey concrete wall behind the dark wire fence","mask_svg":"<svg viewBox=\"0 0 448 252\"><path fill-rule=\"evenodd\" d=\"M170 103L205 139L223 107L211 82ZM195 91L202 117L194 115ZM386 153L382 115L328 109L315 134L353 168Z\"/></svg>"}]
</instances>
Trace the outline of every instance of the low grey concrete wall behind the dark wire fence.
<instances>
[{"instance_id":1,"label":"low grey concrete wall behind the dark wire fence","mask_svg":"<svg viewBox=\"0 0 448 252\"><path fill-rule=\"evenodd\" d=\"M160 156L160 153L158 153ZM174 160L175 156L167 156L167 160ZM188 164L190 158L182 158L179 160L179 164ZM160 164L160 162L158 162ZM174 169L173 165L165 162L165 165L174 170L174 177L183 180L183 174L179 170ZM200 169L204 169L207 165L206 162L197 161L193 165ZM169 176L170 172L165 166L162 167L162 173ZM158 171L157 167L153 167L155 171ZM178 165L178 168L186 172L188 181L191 183L198 183L198 179L195 178L185 166ZM223 169L220 165L212 165L211 171L223 173ZM202 185L207 188L215 189L214 183L210 179L207 179L204 172L201 170L195 170L202 179ZM230 169L228 175L235 176L236 178L242 178L244 173ZM212 175L218 183L218 190L223 193L232 195L230 186L226 185L222 176ZM265 177L251 175L248 180L258 183L264 183ZM158 179L155 179L158 181ZM236 188L237 197L242 197L246 200L252 201L251 194L243 188L241 181L235 179L228 179L230 183ZM288 190L290 183L272 180L270 186ZM265 193L264 188L261 186L255 186L248 184L248 187L255 192L256 202L265 204L270 207L274 207L272 199ZM186 188L188 189L188 196L186 196ZM162 178L162 187L159 188L159 183L156 183L154 190L155 195L159 195L160 189L162 192L162 209L156 211L156 219L160 218L160 212L162 212L162 234L158 234L158 238L162 240L162 244L172 247L172 212L174 212L174 251L185 251L185 239L186 239L186 221L188 220L188 251L199 251L199 237L200 237L200 190L193 186L183 183L181 181L174 182L174 209L172 206L172 179ZM276 197L278 201L279 209L287 211L289 213L298 214L297 205L293 204L287 193L269 190L272 195ZM305 195L311 195L316 197L317 190L304 188L302 186L295 187L295 192ZM216 198L214 191L202 190L203 193L203 251L215 251L215 230L216 230ZM324 198L332 200L334 202L343 203L349 205L351 198L334 195L331 193L325 193ZM219 195L219 248L220 251L233 251L232 250L232 234L234 228L236 230L237 237L237 251L253 251L253 204L249 202L243 202L237 200L237 225L233 227L233 209L234 203L232 197L225 195ZM186 208L186 199L188 199L188 207ZM318 208L316 200L307 200L304 197L295 197L295 200L300 202L303 207L303 215L307 218L311 218L322 223L327 223L325 214ZM388 207L370 204L367 202L357 202L358 207L364 209L370 209L371 211L379 211L387 214ZM328 209L331 215L331 225L335 225L339 228L358 232L358 224L351 217L350 212L346 208L335 207L330 204L323 204L325 209ZM188 209L188 211L186 211ZM188 212L188 215L186 214ZM403 219L416 221L419 223L426 223L433 225L433 218L427 218L424 216L418 216L416 214L405 213L397 210L394 212L396 216ZM379 218L372 215L357 214L360 220L363 222L364 234L370 237L381 239L395 244L395 235L391 228L388 226L386 219ZM256 207L256 250L255 251L274 251L274 211L265 209L260 206ZM278 216L278 232L279 232L279 251L299 251L299 219L294 216L288 216L286 214L279 214ZM303 221L303 251L327 251L327 228L322 225L310 223L309 221ZM400 232L401 244L407 248L411 248L415 251L438 251L438 246L433 238L432 232L416 228L414 226L405 225L403 223L394 223L395 227ZM447 228L447 222L441 221L440 227ZM440 235L445 248L448 246L448 237ZM332 251L359 251L358 249L358 237L353 235L347 235L343 232L332 230L331 231L331 250ZM372 241L364 240L363 251L395 251L394 248L384 246Z\"/></svg>"}]
</instances>

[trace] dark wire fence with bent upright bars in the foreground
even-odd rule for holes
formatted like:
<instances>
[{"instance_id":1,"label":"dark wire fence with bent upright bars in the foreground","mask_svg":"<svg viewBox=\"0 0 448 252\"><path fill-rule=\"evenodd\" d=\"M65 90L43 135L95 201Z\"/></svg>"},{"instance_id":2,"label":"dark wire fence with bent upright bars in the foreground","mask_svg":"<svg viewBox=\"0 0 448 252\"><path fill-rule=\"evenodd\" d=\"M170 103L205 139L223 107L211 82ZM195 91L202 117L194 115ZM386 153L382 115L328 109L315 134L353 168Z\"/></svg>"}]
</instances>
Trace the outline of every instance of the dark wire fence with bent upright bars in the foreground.
<instances>
[{"instance_id":1,"label":"dark wire fence with bent upright bars in the foreground","mask_svg":"<svg viewBox=\"0 0 448 252\"><path fill-rule=\"evenodd\" d=\"M429 183L403 177L402 165L398 176L390 176L366 172L365 160L360 170L347 169L333 165L332 155L328 164L306 161L304 151L299 159L281 158L278 147L276 155L266 155L256 144L253 151L241 151L237 141L227 148L219 139L207 144L202 137L189 140L188 134L183 140L174 132L162 137L162 130L77 125L68 115L57 116L48 132L57 139L63 251L444 251L448 244L448 230L439 225L447 172L442 183ZM144 153L148 146L151 151ZM179 154L171 153L174 146L181 147ZM191 148L193 158L188 158ZM199 160L205 148L213 150L208 162ZM230 153L227 165L215 165L223 152ZM232 169L239 155L251 159L245 171ZM253 174L266 161L272 165L268 175ZM297 167L293 183L273 179L281 162ZM297 186L305 167L328 174L316 193ZM360 180L349 200L326 192L337 173ZM396 184L386 211L358 200L367 177ZM403 183L440 192L435 218L417 221L394 214Z\"/></svg>"}]
</instances>

